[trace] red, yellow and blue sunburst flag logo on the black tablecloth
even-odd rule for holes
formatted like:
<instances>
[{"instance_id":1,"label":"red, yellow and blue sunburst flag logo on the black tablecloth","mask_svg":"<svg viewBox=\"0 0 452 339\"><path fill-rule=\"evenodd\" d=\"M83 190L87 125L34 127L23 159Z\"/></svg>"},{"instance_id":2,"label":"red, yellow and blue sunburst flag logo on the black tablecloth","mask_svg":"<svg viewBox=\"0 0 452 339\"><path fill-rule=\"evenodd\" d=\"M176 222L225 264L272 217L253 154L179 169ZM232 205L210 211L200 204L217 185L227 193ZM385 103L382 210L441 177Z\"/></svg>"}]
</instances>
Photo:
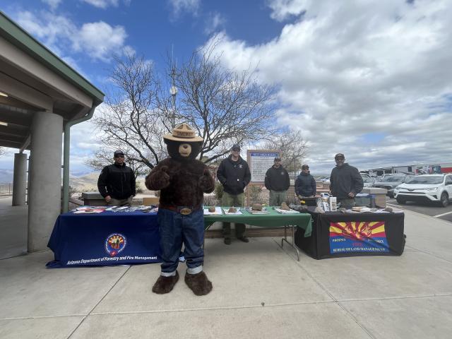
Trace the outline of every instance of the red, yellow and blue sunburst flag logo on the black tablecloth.
<instances>
[{"instance_id":1,"label":"red, yellow and blue sunburst flag logo on the black tablecloth","mask_svg":"<svg viewBox=\"0 0 452 339\"><path fill-rule=\"evenodd\" d=\"M330 222L330 253L388 252L383 221Z\"/></svg>"}]
</instances>

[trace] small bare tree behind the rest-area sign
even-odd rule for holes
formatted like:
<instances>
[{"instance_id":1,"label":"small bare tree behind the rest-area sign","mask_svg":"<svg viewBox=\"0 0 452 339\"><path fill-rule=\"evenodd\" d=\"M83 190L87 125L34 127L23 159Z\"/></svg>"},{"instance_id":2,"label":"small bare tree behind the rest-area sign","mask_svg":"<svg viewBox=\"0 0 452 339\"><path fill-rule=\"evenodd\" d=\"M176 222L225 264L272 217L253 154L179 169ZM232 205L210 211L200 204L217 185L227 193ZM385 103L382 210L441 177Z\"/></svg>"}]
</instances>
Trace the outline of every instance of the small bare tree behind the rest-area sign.
<instances>
[{"instance_id":1,"label":"small bare tree behind the rest-area sign","mask_svg":"<svg viewBox=\"0 0 452 339\"><path fill-rule=\"evenodd\" d=\"M298 172L307 156L307 142L301 131L281 131L275 133L264 144L268 150L280 150L281 161L288 172Z\"/></svg>"}]
</instances>

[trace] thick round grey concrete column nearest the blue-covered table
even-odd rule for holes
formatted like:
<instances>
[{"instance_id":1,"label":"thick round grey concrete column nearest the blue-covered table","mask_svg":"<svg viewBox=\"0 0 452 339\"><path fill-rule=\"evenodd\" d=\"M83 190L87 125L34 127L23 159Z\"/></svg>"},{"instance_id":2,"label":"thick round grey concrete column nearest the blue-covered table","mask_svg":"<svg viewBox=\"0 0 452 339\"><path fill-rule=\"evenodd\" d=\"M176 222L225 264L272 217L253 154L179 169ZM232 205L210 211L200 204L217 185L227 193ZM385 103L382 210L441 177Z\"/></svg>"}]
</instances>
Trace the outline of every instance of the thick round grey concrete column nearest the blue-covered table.
<instances>
[{"instance_id":1,"label":"thick round grey concrete column nearest the blue-covered table","mask_svg":"<svg viewBox=\"0 0 452 339\"><path fill-rule=\"evenodd\" d=\"M47 249L61 210L63 117L37 112L31 127L28 251Z\"/></svg>"}]
</instances>

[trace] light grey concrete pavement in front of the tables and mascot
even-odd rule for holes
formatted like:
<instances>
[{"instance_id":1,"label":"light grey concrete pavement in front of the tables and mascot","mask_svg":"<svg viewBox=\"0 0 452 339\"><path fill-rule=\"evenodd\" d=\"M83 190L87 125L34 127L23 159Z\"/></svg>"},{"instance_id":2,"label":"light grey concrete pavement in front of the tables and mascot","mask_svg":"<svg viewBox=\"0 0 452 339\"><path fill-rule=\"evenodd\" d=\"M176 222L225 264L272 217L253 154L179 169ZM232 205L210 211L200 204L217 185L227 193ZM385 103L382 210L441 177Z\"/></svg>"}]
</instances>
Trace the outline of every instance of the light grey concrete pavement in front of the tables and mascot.
<instances>
[{"instance_id":1,"label":"light grey concrete pavement in front of the tables and mascot","mask_svg":"<svg viewBox=\"0 0 452 339\"><path fill-rule=\"evenodd\" d=\"M0 260L0 338L450 338L452 223L407 211L403 256L296 260L280 239L206 240L209 295L158 264L46 269Z\"/></svg>"}]
</instances>

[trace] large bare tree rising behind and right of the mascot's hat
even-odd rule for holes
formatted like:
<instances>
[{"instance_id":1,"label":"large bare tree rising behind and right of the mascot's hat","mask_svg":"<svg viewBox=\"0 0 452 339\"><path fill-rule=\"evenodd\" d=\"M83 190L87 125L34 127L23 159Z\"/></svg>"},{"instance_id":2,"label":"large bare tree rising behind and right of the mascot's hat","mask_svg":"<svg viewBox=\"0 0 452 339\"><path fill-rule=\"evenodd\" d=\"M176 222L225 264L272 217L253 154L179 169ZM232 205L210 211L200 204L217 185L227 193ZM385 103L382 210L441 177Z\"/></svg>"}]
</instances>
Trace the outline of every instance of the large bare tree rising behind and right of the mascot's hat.
<instances>
[{"instance_id":1,"label":"large bare tree rising behind and right of the mascot's hat","mask_svg":"<svg viewBox=\"0 0 452 339\"><path fill-rule=\"evenodd\" d=\"M221 64L218 40L195 51L179 68L179 114L197 129L206 162L230 152L234 143L250 143L273 133L274 88L260 85L254 71L236 72Z\"/></svg>"}]
</instances>

